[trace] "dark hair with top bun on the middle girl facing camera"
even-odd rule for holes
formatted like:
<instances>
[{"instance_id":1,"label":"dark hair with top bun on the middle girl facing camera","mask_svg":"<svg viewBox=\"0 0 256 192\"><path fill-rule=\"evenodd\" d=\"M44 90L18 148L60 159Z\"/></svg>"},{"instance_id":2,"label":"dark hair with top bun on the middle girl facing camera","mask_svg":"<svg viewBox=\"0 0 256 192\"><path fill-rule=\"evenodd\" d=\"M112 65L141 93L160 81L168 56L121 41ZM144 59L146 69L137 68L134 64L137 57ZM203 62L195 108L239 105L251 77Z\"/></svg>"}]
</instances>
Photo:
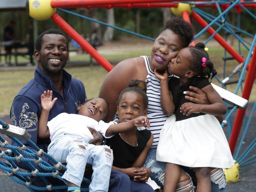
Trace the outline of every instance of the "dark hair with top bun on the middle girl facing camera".
<instances>
[{"instance_id":1,"label":"dark hair with top bun on the middle girl facing camera","mask_svg":"<svg viewBox=\"0 0 256 192\"><path fill-rule=\"evenodd\" d=\"M144 109L148 108L148 96L146 94L147 91L147 84L145 81L140 81L140 80L131 80L126 88L121 92L119 95L118 101L117 101L117 106L119 105L119 102L123 96L124 93L126 92L136 92L140 94L143 98L143 104L144 104Z\"/></svg>"}]
</instances>

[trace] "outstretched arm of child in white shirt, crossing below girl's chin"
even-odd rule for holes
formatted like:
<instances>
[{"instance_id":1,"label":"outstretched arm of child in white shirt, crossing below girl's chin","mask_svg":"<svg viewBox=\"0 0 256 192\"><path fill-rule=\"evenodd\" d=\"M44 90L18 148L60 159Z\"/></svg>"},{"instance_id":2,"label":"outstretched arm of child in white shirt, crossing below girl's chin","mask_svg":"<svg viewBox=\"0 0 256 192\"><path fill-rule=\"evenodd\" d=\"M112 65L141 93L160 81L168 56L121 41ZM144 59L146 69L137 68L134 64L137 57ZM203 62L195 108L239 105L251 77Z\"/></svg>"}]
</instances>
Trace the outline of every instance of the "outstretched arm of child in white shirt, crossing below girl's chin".
<instances>
[{"instance_id":1,"label":"outstretched arm of child in white shirt, crossing below girl's chin","mask_svg":"<svg viewBox=\"0 0 256 192\"><path fill-rule=\"evenodd\" d=\"M150 127L150 122L146 116L139 116L127 122L111 125L108 127L105 135L109 137L111 135L115 135L116 133L122 133L125 131L129 131L134 127L142 127L142 126L147 126L148 128Z\"/></svg>"}]
</instances>

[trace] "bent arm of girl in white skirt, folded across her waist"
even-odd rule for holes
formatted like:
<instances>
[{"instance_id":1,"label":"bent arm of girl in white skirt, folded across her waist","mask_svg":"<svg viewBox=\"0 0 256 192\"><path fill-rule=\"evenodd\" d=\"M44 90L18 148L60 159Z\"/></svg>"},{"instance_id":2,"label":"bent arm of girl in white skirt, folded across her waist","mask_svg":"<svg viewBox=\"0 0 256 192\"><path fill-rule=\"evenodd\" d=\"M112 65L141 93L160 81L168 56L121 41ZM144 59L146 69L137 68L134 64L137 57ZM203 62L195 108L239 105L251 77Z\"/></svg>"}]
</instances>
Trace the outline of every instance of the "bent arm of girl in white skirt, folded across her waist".
<instances>
[{"instance_id":1,"label":"bent arm of girl in white skirt, folded across her waist","mask_svg":"<svg viewBox=\"0 0 256 192\"><path fill-rule=\"evenodd\" d=\"M191 113L202 112L211 115L223 115L226 113L226 107L221 96L211 85L202 88L202 91L206 94L208 100L212 104L184 103L180 107L180 111L183 112L183 114L189 115Z\"/></svg>"}]
</instances>

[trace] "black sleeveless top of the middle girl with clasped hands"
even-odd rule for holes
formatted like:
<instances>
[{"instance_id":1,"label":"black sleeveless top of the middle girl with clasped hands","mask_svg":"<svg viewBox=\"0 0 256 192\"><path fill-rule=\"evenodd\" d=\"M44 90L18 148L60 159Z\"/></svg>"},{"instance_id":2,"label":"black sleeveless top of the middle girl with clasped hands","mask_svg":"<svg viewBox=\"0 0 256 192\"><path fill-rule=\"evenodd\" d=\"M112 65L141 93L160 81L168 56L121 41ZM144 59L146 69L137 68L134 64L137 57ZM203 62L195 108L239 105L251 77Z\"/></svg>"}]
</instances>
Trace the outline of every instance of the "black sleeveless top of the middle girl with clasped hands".
<instances>
[{"instance_id":1,"label":"black sleeveless top of the middle girl with clasped hands","mask_svg":"<svg viewBox=\"0 0 256 192\"><path fill-rule=\"evenodd\" d=\"M113 150L113 166L118 168L132 167L132 164L139 157L150 137L151 132L144 128L140 131L137 130L137 146L128 144L122 139L120 134L115 134L113 137L108 138L106 145Z\"/></svg>"}]
</instances>

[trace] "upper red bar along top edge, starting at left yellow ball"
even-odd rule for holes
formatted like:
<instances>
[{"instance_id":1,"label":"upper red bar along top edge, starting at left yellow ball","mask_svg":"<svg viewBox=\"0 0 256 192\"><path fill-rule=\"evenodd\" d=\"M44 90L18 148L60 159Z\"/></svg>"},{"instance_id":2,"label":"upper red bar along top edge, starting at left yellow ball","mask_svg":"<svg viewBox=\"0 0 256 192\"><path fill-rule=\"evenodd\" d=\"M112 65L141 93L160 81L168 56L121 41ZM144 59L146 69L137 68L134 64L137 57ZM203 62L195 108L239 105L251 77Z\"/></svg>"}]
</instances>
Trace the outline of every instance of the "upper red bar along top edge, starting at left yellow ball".
<instances>
[{"instance_id":1,"label":"upper red bar along top edge, starting at left yellow ball","mask_svg":"<svg viewBox=\"0 0 256 192\"><path fill-rule=\"evenodd\" d=\"M96 6L96 5L109 5L109 4L133 4L133 3L154 3L154 2L174 2L176 0L52 0L52 7L81 7L81 6ZM180 0L190 1L190 0Z\"/></svg>"}]
</instances>

